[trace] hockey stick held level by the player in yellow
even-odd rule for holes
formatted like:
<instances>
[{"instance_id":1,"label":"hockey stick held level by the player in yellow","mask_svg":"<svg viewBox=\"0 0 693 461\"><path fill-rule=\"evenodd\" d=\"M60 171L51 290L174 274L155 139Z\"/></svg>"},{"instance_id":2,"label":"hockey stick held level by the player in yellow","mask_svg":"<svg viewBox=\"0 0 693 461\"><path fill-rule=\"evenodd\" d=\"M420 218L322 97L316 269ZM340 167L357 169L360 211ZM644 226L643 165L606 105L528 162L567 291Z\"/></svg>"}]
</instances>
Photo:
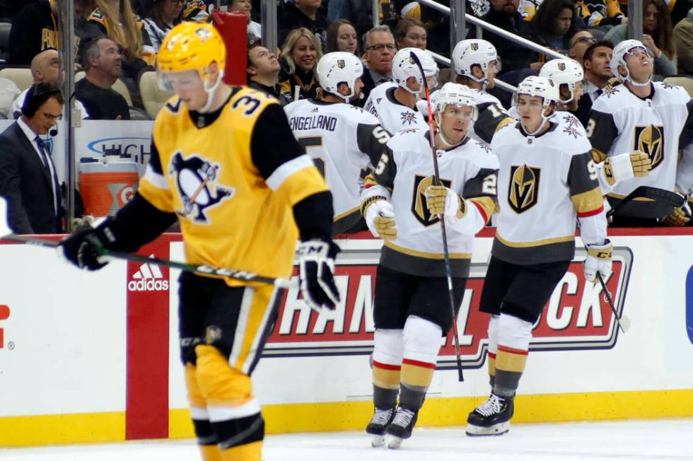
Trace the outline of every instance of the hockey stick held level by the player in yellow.
<instances>
[{"instance_id":1,"label":"hockey stick held level by the player in yellow","mask_svg":"<svg viewBox=\"0 0 693 461\"><path fill-rule=\"evenodd\" d=\"M28 243L29 245L37 245L40 247L55 248L59 246L58 242L45 240L42 238L25 237L24 235L15 235L12 233L8 225L7 202L4 197L0 197L0 240L11 240L13 242ZM252 272L239 271L236 269L228 269L226 267L214 267L207 264L188 264L187 262L171 261L170 259L161 259L156 257L146 257L134 255L133 253L111 251L102 249L100 252L103 256L112 259L124 259L126 261L141 262L154 264L161 267L169 267L180 269L184 272L195 272L197 274L209 274L228 277L229 279L257 282L260 284L270 284L278 288L298 288L296 281L291 279L274 279L262 275L253 274Z\"/></svg>"}]
</instances>

